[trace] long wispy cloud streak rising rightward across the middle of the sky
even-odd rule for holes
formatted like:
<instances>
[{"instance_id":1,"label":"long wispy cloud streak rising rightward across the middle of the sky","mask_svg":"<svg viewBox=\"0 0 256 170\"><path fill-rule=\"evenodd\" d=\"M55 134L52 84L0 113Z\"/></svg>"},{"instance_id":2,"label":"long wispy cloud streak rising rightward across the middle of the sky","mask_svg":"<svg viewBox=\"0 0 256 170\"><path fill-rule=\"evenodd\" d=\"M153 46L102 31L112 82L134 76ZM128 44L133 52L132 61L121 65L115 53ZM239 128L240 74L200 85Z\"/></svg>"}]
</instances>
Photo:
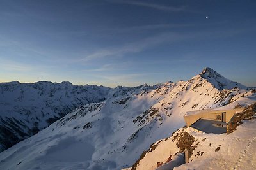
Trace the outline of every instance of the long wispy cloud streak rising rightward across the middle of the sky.
<instances>
[{"instance_id":1,"label":"long wispy cloud streak rising rightward across the middle of the sky","mask_svg":"<svg viewBox=\"0 0 256 170\"><path fill-rule=\"evenodd\" d=\"M127 43L123 46L115 46L110 48L102 48L97 50L97 52L90 53L82 59L79 59L79 62L88 62L95 59L103 59L106 57L122 57L127 53L138 53L148 48L152 48L162 43L176 43L179 41L184 41L186 39L196 38L196 39L216 39L224 38L229 36L236 36L241 32L246 31L247 29L227 29L227 30L214 30L214 31L197 31L197 32L187 32L177 33L177 32L164 32L157 34L155 36L150 36L140 41L135 41L133 43Z\"/></svg>"}]
</instances>

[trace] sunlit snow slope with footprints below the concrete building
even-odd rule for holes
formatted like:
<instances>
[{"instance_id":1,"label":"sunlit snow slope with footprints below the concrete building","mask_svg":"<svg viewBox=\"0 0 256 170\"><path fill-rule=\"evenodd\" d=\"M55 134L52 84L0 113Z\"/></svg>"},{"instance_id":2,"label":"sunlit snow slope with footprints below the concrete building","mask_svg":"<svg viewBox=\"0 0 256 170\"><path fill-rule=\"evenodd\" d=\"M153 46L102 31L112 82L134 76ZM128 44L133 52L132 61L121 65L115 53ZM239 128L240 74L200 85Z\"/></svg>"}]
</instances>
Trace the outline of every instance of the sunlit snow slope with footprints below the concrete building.
<instances>
[{"instance_id":1,"label":"sunlit snow slope with footprints below the concrete building","mask_svg":"<svg viewBox=\"0 0 256 170\"><path fill-rule=\"evenodd\" d=\"M175 169L256 169L256 120L247 120L228 136L191 132L198 141L206 138L193 161ZM211 143L211 147L209 144ZM220 150L216 152L216 148Z\"/></svg>"}]
</instances>

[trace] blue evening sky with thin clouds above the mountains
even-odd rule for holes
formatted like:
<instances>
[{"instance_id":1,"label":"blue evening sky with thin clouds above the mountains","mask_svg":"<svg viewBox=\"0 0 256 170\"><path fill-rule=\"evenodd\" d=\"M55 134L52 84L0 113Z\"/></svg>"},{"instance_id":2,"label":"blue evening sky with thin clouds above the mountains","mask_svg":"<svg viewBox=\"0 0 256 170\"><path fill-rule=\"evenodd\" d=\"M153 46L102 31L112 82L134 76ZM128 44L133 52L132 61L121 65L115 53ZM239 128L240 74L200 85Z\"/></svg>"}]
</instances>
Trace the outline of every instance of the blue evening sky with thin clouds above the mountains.
<instances>
[{"instance_id":1,"label":"blue evening sky with thin clouds above the mountains","mask_svg":"<svg viewBox=\"0 0 256 170\"><path fill-rule=\"evenodd\" d=\"M254 0L1 0L0 82L131 87L211 67L256 86L255 9Z\"/></svg>"}]
</instances>

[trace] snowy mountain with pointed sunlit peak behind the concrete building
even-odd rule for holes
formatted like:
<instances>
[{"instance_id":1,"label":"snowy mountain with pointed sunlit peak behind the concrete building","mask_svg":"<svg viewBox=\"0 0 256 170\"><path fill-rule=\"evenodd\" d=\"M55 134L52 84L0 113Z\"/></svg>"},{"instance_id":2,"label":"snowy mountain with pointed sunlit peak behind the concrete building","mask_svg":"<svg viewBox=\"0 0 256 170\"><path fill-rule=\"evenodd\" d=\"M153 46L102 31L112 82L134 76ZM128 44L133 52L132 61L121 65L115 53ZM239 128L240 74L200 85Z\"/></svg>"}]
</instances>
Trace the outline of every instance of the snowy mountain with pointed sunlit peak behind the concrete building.
<instances>
[{"instance_id":1,"label":"snowy mountain with pointed sunlit peak behind the concrete building","mask_svg":"<svg viewBox=\"0 0 256 170\"><path fill-rule=\"evenodd\" d=\"M0 153L0 169L131 167L152 143L183 127L187 111L237 104L253 96L253 90L209 68L188 81L116 87L105 101L80 106Z\"/></svg>"}]
</instances>

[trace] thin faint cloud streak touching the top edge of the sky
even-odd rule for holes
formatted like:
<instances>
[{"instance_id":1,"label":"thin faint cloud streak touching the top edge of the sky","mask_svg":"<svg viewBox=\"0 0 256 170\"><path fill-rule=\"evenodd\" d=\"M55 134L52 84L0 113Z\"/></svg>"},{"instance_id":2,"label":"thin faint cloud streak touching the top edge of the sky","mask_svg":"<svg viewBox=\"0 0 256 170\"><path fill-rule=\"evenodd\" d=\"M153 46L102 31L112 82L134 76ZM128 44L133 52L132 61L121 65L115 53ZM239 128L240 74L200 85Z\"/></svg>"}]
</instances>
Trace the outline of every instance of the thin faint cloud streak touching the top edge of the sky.
<instances>
[{"instance_id":1,"label":"thin faint cloud streak touching the top edge of the sky","mask_svg":"<svg viewBox=\"0 0 256 170\"><path fill-rule=\"evenodd\" d=\"M153 8L155 10L161 10L161 11L185 11L186 8L185 6L164 6L161 4L154 4L154 3L146 3L142 1L116 1L112 0L111 2L113 3L122 3L122 4L131 4L131 5L136 5L136 6L143 6L143 7L148 7L148 8Z\"/></svg>"}]
</instances>

